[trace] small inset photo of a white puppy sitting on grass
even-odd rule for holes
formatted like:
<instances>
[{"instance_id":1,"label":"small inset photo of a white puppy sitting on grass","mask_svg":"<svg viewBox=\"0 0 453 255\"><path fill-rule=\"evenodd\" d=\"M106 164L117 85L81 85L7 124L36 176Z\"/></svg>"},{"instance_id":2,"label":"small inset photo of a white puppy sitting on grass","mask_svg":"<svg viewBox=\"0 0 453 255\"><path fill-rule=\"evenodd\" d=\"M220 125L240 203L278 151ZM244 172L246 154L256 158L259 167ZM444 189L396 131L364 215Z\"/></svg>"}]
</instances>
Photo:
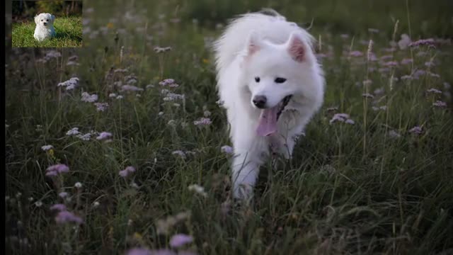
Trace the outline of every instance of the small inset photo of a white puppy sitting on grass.
<instances>
[{"instance_id":1,"label":"small inset photo of a white puppy sitting on grass","mask_svg":"<svg viewBox=\"0 0 453 255\"><path fill-rule=\"evenodd\" d=\"M12 47L82 47L82 1L13 1Z\"/></svg>"}]
</instances>

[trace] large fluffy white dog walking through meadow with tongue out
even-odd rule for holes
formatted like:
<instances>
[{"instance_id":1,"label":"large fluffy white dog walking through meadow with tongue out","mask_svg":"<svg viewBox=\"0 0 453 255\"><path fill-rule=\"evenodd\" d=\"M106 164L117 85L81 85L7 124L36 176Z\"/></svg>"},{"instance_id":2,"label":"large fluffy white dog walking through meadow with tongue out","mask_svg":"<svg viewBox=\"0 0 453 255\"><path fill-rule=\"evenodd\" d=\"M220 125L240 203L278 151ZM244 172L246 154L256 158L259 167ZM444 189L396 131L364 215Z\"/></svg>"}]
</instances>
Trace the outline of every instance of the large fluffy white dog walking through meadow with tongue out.
<instances>
[{"instance_id":1,"label":"large fluffy white dog walking through meadow with tongue out","mask_svg":"<svg viewBox=\"0 0 453 255\"><path fill-rule=\"evenodd\" d=\"M265 156L292 157L294 143L323 103L314 38L276 11L236 18L215 42L217 89L235 158L234 198L248 199Z\"/></svg>"}]
</instances>

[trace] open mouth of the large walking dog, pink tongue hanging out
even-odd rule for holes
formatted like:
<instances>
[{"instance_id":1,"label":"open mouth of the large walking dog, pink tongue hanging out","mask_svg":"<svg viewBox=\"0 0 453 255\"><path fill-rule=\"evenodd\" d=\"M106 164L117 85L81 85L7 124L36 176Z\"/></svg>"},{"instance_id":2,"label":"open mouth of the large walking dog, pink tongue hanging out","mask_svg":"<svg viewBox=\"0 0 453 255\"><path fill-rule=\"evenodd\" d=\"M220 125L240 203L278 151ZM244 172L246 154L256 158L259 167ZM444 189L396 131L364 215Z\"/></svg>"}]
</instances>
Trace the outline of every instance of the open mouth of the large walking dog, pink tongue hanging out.
<instances>
[{"instance_id":1,"label":"open mouth of the large walking dog, pink tongue hanging out","mask_svg":"<svg viewBox=\"0 0 453 255\"><path fill-rule=\"evenodd\" d=\"M268 136L277 132L277 120L280 118L285 106L289 103L292 95L285 96L285 98L274 106L273 108L266 108L261 111L260 120L256 132L260 136Z\"/></svg>"}]
</instances>

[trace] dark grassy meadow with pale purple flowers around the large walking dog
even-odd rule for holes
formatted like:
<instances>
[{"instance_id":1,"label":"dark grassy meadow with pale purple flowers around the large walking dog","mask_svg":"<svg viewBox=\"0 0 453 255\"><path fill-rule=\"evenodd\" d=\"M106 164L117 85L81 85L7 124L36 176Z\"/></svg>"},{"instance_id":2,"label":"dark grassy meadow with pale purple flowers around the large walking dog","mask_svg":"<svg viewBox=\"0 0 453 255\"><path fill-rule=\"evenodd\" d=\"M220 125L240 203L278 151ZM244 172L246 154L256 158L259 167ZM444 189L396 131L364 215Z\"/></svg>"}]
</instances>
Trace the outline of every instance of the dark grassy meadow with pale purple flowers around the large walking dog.
<instances>
[{"instance_id":1,"label":"dark grassy meadow with pale purple flowers around the large walking dog","mask_svg":"<svg viewBox=\"0 0 453 255\"><path fill-rule=\"evenodd\" d=\"M450 254L449 2L216 3L87 1L84 48L8 52L5 254ZM326 96L236 207L210 46L260 7L313 23Z\"/></svg>"}]
</instances>

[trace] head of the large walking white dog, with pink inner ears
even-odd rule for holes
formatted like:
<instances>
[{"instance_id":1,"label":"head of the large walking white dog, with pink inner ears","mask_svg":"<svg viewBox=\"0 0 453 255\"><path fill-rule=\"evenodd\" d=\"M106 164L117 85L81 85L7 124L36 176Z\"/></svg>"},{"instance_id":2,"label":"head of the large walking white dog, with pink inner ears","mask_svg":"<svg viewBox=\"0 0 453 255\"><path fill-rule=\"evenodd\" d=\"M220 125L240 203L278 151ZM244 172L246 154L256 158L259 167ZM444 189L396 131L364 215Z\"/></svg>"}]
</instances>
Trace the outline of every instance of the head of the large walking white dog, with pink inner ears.
<instances>
[{"instance_id":1,"label":"head of the large walking white dog, with pink inner ears","mask_svg":"<svg viewBox=\"0 0 453 255\"><path fill-rule=\"evenodd\" d=\"M310 98L318 94L322 88L314 86L319 86L322 76L312 40L304 31L292 33L282 44L263 40L255 32L248 36L241 80L251 92L253 107L275 108L286 104L291 96Z\"/></svg>"}]
</instances>

